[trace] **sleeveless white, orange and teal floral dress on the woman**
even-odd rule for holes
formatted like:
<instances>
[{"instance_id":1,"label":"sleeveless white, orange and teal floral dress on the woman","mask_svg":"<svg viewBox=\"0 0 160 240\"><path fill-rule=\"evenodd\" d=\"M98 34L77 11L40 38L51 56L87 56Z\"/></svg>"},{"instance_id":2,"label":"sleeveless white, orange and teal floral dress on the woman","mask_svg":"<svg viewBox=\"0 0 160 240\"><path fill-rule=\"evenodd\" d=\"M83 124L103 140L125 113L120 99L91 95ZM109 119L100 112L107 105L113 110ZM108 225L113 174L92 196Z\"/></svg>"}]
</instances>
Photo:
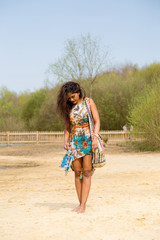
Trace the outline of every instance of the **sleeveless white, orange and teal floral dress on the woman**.
<instances>
[{"instance_id":1,"label":"sleeveless white, orange and teal floral dress on the woman","mask_svg":"<svg viewBox=\"0 0 160 240\"><path fill-rule=\"evenodd\" d=\"M92 154L92 140L85 102L73 106L70 112L70 125L69 147L73 160Z\"/></svg>"}]
</instances>

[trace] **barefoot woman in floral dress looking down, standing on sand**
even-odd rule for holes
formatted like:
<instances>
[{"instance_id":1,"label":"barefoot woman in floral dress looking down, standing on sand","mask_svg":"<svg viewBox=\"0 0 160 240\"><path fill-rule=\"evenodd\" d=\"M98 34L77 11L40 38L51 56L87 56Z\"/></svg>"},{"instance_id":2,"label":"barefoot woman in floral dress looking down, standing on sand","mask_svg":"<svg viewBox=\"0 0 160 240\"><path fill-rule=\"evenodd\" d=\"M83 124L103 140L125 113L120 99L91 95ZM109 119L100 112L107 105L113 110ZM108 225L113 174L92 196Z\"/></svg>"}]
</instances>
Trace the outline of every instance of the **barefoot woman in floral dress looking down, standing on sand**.
<instances>
[{"instance_id":1,"label":"barefoot woman in floral dress looking down, standing on sand","mask_svg":"<svg viewBox=\"0 0 160 240\"><path fill-rule=\"evenodd\" d=\"M65 122L64 148L70 150L74 159L72 169L75 172L75 186L79 206L73 209L84 213L91 186L92 152L97 148L97 134L100 130L100 119L95 103L89 99L90 109L95 123L91 139L88 112L85 105L85 92L76 82L65 83L58 94L57 111ZM81 178L83 169L83 177Z\"/></svg>"}]
</instances>

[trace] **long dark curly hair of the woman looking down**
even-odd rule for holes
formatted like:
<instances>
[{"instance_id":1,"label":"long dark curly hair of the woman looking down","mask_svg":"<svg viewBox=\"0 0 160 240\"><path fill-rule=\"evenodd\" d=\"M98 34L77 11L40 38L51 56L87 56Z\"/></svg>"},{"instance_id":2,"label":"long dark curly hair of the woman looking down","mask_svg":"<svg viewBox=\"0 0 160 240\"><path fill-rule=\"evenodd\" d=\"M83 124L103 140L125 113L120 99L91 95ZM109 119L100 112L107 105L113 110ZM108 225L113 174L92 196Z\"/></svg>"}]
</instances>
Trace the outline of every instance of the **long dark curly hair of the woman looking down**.
<instances>
[{"instance_id":1,"label":"long dark curly hair of the woman looking down","mask_svg":"<svg viewBox=\"0 0 160 240\"><path fill-rule=\"evenodd\" d=\"M76 82L66 82L60 88L60 91L57 96L57 106L56 110L62 118L64 119L65 124L69 125L69 114L73 107L73 103L68 100L68 93L80 93L79 98L84 99L86 93L84 89Z\"/></svg>"}]
</instances>

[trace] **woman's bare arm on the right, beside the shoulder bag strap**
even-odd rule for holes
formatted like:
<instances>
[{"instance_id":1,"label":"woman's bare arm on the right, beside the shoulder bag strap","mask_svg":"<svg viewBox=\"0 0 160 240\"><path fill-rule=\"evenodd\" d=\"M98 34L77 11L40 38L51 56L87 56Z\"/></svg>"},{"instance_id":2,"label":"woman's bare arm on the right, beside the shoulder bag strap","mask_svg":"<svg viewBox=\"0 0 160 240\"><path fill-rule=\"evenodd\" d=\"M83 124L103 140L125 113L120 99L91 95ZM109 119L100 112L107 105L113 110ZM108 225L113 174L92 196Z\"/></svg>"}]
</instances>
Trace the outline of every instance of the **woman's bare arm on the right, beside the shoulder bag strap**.
<instances>
[{"instance_id":1,"label":"woman's bare arm on the right, beside the shoulder bag strap","mask_svg":"<svg viewBox=\"0 0 160 240\"><path fill-rule=\"evenodd\" d=\"M90 109L91 109L91 113L92 113L93 120L94 120L94 133L93 133L93 141L92 141L92 148L94 150L97 148L97 135L100 130L100 118L99 118L96 104L94 103L94 101L92 99L90 99Z\"/></svg>"}]
</instances>

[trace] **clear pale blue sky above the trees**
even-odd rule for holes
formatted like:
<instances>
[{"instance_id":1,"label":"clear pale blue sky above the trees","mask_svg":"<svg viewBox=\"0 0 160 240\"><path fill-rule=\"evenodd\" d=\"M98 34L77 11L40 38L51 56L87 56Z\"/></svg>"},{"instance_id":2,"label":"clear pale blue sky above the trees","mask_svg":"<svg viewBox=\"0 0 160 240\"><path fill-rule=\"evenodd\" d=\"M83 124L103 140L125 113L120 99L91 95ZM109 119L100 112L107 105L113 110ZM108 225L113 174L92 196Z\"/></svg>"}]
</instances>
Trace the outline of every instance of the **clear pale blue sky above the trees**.
<instances>
[{"instance_id":1,"label":"clear pale blue sky above the trees","mask_svg":"<svg viewBox=\"0 0 160 240\"><path fill-rule=\"evenodd\" d=\"M0 87L34 91L67 39L90 33L113 66L160 62L159 0L0 0Z\"/></svg>"}]
</instances>

